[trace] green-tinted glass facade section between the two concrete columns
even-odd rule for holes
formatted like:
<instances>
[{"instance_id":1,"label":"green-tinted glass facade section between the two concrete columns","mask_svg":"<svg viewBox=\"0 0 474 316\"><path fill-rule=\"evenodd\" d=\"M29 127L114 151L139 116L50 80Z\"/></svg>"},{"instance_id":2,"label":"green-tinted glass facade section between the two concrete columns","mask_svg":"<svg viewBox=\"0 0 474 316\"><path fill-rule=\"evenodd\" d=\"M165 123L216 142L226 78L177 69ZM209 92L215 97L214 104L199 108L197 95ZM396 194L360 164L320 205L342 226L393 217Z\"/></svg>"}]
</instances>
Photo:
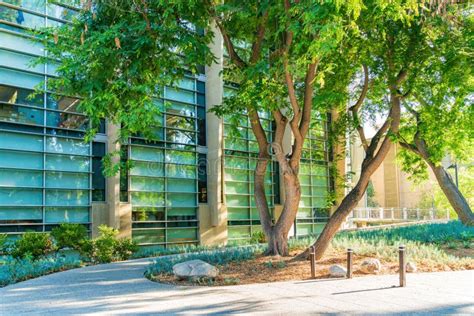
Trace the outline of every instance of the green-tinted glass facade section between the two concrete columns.
<instances>
[{"instance_id":1,"label":"green-tinted glass facade section between the two concrete columns","mask_svg":"<svg viewBox=\"0 0 474 316\"><path fill-rule=\"evenodd\" d=\"M204 93L204 82L194 77L177 88L165 87L156 99L163 114L152 127L154 141L130 139L132 238L142 245L199 242L198 203L206 192L198 174L198 160L205 162L205 155L197 149L205 145Z\"/></svg>"}]
</instances>

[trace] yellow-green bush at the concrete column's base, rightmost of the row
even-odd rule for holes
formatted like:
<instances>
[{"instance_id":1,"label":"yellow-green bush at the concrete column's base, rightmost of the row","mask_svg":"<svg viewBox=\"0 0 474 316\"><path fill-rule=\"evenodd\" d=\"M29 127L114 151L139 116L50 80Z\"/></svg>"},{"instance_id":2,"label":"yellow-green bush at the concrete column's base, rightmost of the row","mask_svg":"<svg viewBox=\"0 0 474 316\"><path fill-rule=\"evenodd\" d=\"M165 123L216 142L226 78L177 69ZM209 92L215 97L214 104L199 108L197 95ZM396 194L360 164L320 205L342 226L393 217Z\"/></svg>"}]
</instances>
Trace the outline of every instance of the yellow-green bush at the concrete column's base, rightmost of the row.
<instances>
[{"instance_id":1,"label":"yellow-green bush at the concrete column's base, rightmost of the row","mask_svg":"<svg viewBox=\"0 0 474 316\"><path fill-rule=\"evenodd\" d=\"M129 259L138 251L138 245L130 238L118 239L119 231L100 225L99 237L87 242L88 254L94 263L108 263Z\"/></svg>"}]
</instances>

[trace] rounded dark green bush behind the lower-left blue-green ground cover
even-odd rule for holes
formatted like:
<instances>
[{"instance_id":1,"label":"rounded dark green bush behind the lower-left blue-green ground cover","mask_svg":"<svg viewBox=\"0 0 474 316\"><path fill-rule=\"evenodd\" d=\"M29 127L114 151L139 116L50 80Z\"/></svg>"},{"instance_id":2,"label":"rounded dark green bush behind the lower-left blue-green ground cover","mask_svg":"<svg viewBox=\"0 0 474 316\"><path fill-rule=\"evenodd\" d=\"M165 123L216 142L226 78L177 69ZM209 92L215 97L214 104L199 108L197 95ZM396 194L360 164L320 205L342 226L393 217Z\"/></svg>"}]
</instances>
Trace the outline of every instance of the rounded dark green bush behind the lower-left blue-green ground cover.
<instances>
[{"instance_id":1,"label":"rounded dark green bush behind the lower-left blue-green ground cover","mask_svg":"<svg viewBox=\"0 0 474 316\"><path fill-rule=\"evenodd\" d=\"M35 260L55 250L49 234L26 232L15 241L11 255L13 258Z\"/></svg>"}]
</instances>

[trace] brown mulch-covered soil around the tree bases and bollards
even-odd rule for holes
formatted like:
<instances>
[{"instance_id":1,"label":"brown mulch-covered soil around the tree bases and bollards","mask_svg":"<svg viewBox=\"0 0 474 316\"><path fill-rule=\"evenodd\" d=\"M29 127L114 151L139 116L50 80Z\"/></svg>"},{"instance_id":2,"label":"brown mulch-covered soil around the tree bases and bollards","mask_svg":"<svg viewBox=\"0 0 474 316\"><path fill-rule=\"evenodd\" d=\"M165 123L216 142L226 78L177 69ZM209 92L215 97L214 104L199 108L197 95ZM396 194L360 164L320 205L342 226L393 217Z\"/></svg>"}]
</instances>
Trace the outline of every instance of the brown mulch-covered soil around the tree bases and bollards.
<instances>
[{"instance_id":1,"label":"brown mulch-covered soil around the tree bases and bollards","mask_svg":"<svg viewBox=\"0 0 474 316\"><path fill-rule=\"evenodd\" d=\"M453 249L450 249L451 254ZM474 249L458 249L459 257L474 258ZM233 262L227 265L218 266L219 276L214 280L178 280L174 275L162 274L153 277L154 281L175 285L236 285L251 283L267 283L290 280L309 280L311 279L311 267L309 260L296 258L300 251L295 251L289 257L268 257L257 256L253 260ZM330 278L329 267L334 264L346 267L346 254L344 252L328 251L325 257L316 263L316 278ZM359 270L359 266L366 258L374 256L353 255L353 277L361 277L366 274ZM398 273L398 262L380 260L382 271L379 274ZM436 272L453 270L472 270L474 269L474 260L468 260L467 263L448 266L436 264L433 262L423 262L417 264L417 272Z\"/></svg>"}]
</instances>

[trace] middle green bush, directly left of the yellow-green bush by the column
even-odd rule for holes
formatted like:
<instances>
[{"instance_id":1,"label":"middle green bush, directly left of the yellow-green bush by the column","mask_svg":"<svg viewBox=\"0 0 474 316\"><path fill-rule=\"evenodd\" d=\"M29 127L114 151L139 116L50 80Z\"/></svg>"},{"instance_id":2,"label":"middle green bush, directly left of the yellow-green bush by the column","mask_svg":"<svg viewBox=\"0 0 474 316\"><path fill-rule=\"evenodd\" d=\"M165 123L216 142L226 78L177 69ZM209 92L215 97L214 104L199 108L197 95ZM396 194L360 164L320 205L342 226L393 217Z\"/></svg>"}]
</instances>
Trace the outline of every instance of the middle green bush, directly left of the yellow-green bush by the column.
<instances>
[{"instance_id":1,"label":"middle green bush, directly left of the yellow-green bush by the column","mask_svg":"<svg viewBox=\"0 0 474 316\"><path fill-rule=\"evenodd\" d=\"M83 225L63 223L53 228L51 236L59 249L70 248L81 253L84 252L87 243L87 229Z\"/></svg>"}]
</instances>

